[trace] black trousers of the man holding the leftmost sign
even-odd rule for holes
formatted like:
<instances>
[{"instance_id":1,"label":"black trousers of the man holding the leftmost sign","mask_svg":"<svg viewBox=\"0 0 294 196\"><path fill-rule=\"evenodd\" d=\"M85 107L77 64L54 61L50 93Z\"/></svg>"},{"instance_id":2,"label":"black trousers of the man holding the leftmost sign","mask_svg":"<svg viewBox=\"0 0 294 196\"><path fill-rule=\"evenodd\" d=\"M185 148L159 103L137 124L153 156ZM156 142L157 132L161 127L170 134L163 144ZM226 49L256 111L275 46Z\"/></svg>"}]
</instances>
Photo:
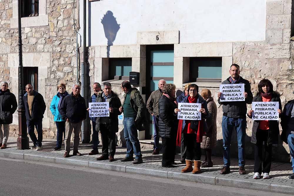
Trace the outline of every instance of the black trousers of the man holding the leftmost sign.
<instances>
[{"instance_id":1,"label":"black trousers of the man holding the leftmost sign","mask_svg":"<svg viewBox=\"0 0 294 196\"><path fill-rule=\"evenodd\" d=\"M115 132L110 130L109 124L100 124L102 140L102 156L114 156L116 151Z\"/></svg>"}]
</instances>

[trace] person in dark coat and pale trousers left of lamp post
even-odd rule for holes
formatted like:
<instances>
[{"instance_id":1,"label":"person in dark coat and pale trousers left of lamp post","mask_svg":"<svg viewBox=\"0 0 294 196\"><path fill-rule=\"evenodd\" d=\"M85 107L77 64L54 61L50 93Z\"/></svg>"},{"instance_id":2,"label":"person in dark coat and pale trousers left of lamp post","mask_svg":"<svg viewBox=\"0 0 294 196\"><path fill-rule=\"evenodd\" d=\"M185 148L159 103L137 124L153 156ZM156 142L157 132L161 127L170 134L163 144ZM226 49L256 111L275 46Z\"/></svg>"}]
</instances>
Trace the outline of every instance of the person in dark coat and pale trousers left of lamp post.
<instances>
[{"instance_id":1,"label":"person in dark coat and pale trousers left of lamp post","mask_svg":"<svg viewBox=\"0 0 294 196\"><path fill-rule=\"evenodd\" d=\"M0 89L0 149L7 147L9 124L12 123L12 114L17 108L14 94L10 93L7 82L1 82ZM1 127L3 125L3 132Z\"/></svg>"}]
</instances>

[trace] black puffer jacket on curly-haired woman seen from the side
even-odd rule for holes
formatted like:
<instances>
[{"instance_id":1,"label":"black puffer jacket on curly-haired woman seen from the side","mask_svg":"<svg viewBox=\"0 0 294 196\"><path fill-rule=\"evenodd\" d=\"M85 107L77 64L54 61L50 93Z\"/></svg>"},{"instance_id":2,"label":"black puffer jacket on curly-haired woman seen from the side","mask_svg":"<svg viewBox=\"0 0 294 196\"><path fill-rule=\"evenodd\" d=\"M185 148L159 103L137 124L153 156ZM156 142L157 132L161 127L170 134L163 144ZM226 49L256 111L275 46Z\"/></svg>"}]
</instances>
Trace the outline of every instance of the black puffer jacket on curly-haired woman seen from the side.
<instances>
[{"instance_id":1,"label":"black puffer jacket on curly-haired woman seen from the side","mask_svg":"<svg viewBox=\"0 0 294 196\"><path fill-rule=\"evenodd\" d=\"M177 108L176 103L167 98L161 96L158 102L159 109L159 135L161 138L171 138L172 134L176 135L178 130L178 117L174 113Z\"/></svg>"}]
</instances>

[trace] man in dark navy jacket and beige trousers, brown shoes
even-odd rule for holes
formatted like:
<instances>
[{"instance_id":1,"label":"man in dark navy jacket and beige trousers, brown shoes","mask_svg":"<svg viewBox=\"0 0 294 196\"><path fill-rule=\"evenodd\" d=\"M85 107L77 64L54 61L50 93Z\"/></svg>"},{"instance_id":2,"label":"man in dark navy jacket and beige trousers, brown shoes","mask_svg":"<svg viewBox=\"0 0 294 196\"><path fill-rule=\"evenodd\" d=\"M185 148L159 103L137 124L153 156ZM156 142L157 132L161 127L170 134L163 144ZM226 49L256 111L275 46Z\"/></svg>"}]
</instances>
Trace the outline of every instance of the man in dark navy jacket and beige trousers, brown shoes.
<instances>
[{"instance_id":1,"label":"man in dark navy jacket and beige trousers, brown shoes","mask_svg":"<svg viewBox=\"0 0 294 196\"><path fill-rule=\"evenodd\" d=\"M82 120L86 118L87 108L85 99L81 96L81 86L79 84L74 84L72 88L72 93L64 98L59 112L62 116L62 119L69 122L69 129L66 129L65 132L65 153L64 157L69 157L70 152L70 140L71 133L74 130L74 149L73 155L81 156L81 153L78 152L78 145L80 143L80 132Z\"/></svg>"}]
</instances>

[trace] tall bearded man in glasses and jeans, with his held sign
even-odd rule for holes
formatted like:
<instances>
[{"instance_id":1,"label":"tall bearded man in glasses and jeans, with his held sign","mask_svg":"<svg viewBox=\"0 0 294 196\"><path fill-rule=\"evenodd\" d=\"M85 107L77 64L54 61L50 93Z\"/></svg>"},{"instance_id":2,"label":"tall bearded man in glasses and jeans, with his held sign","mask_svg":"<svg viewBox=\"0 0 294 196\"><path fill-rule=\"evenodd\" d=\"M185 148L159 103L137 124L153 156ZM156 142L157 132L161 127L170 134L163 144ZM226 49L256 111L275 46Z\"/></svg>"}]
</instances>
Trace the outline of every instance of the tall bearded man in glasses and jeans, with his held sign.
<instances>
[{"instance_id":1,"label":"tall bearded man in glasses and jeans, with his held sign","mask_svg":"<svg viewBox=\"0 0 294 196\"><path fill-rule=\"evenodd\" d=\"M220 174L230 173L230 145L233 129L235 129L238 140L239 174L243 175L246 174L244 157L247 112L246 104L252 103L253 95L249 81L243 79L239 75L239 65L231 65L229 73L231 76L222 82L223 86L218 93L218 103L223 105L222 129L224 166L221 169Z\"/></svg>"}]
</instances>

